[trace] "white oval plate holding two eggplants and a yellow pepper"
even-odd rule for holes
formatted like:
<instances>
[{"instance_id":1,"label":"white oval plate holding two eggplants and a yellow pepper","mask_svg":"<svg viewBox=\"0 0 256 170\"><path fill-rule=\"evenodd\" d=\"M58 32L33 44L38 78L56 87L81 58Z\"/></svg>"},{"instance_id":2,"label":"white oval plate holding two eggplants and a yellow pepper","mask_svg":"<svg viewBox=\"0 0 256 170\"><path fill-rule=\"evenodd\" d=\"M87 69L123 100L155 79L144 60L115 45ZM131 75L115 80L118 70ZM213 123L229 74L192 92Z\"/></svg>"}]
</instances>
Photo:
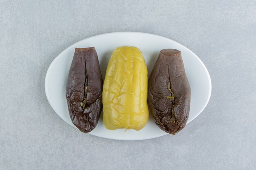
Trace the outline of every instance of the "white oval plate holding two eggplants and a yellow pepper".
<instances>
[{"instance_id":1,"label":"white oval plate holding two eggplants and a yellow pepper","mask_svg":"<svg viewBox=\"0 0 256 170\"><path fill-rule=\"evenodd\" d=\"M202 61L192 51L182 44L159 35L138 32L116 32L96 35L76 42L60 53L49 66L45 77L45 93L54 111L68 124L75 127L70 119L65 98L67 76L74 55L74 49L94 46L101 66L104 80L108 61L112 52L118 46L136 46L145 58L148 76L155 64L159 51L162 49L177 49L182 52L186 75L191 86L191 108L187 124L197 117L209 102L211 96L211 78ZM166 135L149 116L148 124L139 131L107 130L103 125L102 113L97 127L91 135L117 140L142 140Z\"/></svg>"}]
</instances>

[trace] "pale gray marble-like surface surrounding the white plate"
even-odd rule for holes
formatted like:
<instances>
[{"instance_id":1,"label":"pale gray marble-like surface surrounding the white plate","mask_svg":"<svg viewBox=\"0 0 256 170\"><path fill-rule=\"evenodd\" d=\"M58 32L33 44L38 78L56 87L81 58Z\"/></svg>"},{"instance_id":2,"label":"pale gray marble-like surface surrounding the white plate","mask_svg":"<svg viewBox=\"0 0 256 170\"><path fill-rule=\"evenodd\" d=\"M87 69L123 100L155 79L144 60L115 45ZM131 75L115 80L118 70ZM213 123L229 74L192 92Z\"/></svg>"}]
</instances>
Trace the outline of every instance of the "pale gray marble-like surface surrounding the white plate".
<instances>
[{"instance_id":1,"label":"pale gray marble-like surface surrounding the white plate","mask_svg":"<svg viewBox=\"0 0 256 170\"><path fill-rule=\"evenodd\" d=\"M73 43L139 31L187 46L212 95L177 135L115 141L83 134L47 102L49 64ZM253 170L256 167L255 0L0 0L1 170Z\"/></svg>"}]
</instances>

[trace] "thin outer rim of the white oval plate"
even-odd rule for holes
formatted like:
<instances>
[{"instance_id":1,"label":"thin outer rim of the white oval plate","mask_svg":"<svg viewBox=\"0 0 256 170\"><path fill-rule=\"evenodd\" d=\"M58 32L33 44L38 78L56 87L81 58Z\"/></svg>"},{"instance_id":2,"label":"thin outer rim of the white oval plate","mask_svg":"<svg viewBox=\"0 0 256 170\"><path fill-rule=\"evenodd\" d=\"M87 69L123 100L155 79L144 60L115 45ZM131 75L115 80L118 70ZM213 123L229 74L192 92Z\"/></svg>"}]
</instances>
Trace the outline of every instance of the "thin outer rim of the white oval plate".
<instances>
[{"instance_id":1,"label":"thin outer rim of the white oval plate","mask_svg":"<svg viewBox=\"0 0 256 170\"><path fill-rule=\"evenodd\" d=\"M190 53L192 53L192 54L196 57L196 59L197 59L197 60L200 62L200 64L203 66L204 71L205 71L206 74L207 74L207 78L208 78L208 81L209 81L209 91L208 91L208 96L207 96L207 102L205 102L205 104L204 104L204 106L202 107L202 109L200 110L200 112L198 112L198 114L195 115L195 117L193 117L190 121L188 121L188 122L186 123L186 125L189 124L191 121L193 121L196 117L198 117L198 115L200 115L200 114L202 113L202 111L204 110L204 108L205 108L205 107L207 106L207 104L209 103L209 100L210 100L210 98L211 98L211 91L212 91L211 77L210 77L210 74L209 74L209 72L208 72L206 66L205 66L204 63L202 62L202 60L201 60L193 51L191 51L189 48L187 48L187 47L184 46L183 44L180 44L179 42L176 42L175 40L172 40L172 39L170 39L170 38L166 38L166 37L161 36L161 35L152 34L152 33L133 32L133 31L109 32L109 33L103 33L103 34L94 35L94 36L91 36L91 37L88 37L88 38L84 38L83 40L80 40L80 41L75 42L74 44L68 46L65 50L63 50L61 53L59 53L59 54L54 58L54 60L52 60L51 64L49 65L49 67L48 67L48 69L47 69L46 75L45 75L45 95L46 95L46 98L47 98L48 103L50 104L50 106L52 107L52 109L54 110L54 112L55 112L59 117L61 117L61 119L62 119L63 121L65 121L65 120L63 119L63 117L62 117L61 115L59 115L59 114L56 112L56 110L54 109L54 107L52 106L52 104L51 104L51 102L50 102L50 99L49 99L49 97L48 97L48 95L47 95L47 85L46 85L46 84L47 84L47 77L49 76L49 70L52 68L54 62L55 62L59 57L61 57L61 54L62 54L62 53L65 53L65 51L67 51L68 49L70 49L70 48L71 48L72 46L74 46L75 44L78 44L78 43L80 43L80 42L82 42L82 41L84 41L84 40L88 40L88 39L90 39L90 38L95 38L95 37L97 37L97 36L102 36L102 35L108 35L108 34L124 34L124 33L144 34L144 35L150 35L150 36L156 36L156 37L159 37L159 38L164 38L164 39L167 39L167 40L169 40L169 41L171 40L172 42L181 45L183 48L185 48L186 50L188 50ZM67 121L65 121L65 122L66 122L67 124L69 124ZM70 124L69 124L69 125L70 125ZM71 126L75 127L74 125L71 125ZM76 128L76 127L75 127L75 128ZM90 134L90 132L89 132L88 134ZM102 136L100 136L100 135L95 135L95 134L90 134L90 135L97 136L97 137L102 137L102 138L106 138L106 139L121 140L121 141L136 141L136 140L153 139L153 138L161 137L161 136L164 136L164 135L167 135L167 134L168 134L168 133L166 133L166 134L159 134L159 135L157 135L157 136L155 136L155 137L145 137L145 138L140 138L140 139L115 139L115 138L111 138L111 137L102 137Z\"/></svg>"}]
</instances>

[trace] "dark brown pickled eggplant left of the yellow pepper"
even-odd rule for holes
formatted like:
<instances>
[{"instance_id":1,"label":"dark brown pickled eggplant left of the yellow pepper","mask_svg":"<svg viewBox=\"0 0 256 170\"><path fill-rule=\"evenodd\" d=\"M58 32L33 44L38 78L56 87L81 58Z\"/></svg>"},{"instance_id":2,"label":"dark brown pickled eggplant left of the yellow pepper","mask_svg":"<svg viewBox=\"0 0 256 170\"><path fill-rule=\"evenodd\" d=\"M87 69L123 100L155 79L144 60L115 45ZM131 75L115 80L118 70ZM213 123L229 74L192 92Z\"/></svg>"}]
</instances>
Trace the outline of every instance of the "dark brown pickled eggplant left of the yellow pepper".
<instances>
[{"instance_id":1,"label":"dark brown pickled eggplant left of the yellow pepper","mask_svg":"<svg viewBox=\"0 0 256 170\"><path fill-rule=\"evenodd\" d=\"M92 131L102 110L103 81L94 47L76 48L67 79L67 105L73 124Z\"/></svg>"}]
</instances>

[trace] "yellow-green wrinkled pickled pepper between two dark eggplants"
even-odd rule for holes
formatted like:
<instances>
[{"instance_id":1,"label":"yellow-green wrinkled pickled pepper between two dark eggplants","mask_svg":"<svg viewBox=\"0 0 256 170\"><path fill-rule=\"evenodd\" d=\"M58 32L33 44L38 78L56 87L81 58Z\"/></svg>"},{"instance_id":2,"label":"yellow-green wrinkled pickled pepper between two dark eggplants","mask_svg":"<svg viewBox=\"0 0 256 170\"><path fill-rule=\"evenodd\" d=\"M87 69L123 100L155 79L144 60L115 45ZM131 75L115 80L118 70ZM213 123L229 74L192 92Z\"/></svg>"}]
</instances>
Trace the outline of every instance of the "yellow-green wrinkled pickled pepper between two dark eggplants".
<instances>
[{"instance_id":1,"label":"yellow-green wrinkled pickled pepper between two dark eggplants","mask_svg":"<svg viewBox=\"0 0 256 170\"><path fill-rule=\"evenodd\" d=\"M103 85L103 122L107 129L141 130L148 122L148 71L141 51L117 47Z\"/></svg>"}]
</instances>

